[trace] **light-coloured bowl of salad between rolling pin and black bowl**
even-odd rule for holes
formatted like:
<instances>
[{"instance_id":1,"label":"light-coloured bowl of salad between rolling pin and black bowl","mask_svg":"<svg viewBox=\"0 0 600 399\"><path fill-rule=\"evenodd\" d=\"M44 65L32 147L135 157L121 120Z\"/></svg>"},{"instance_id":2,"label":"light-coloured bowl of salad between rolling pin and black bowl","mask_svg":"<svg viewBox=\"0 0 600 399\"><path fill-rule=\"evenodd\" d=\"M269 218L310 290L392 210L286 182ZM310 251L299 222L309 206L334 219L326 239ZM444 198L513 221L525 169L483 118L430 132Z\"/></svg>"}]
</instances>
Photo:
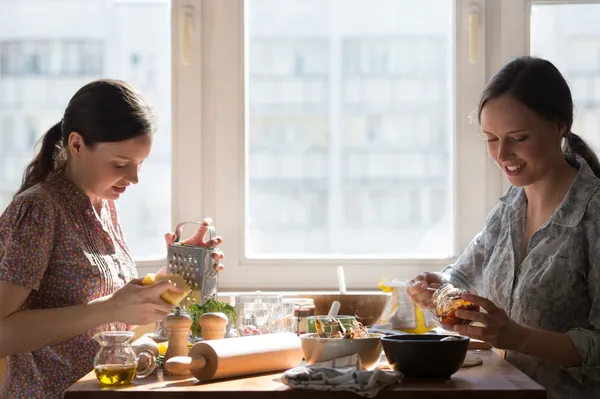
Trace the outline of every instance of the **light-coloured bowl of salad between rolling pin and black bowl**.
<instances>
[{"instance_id":1,"label":"light-coloured bowl of salad between rolling pin and black bowl","mask_svg":"<svg viewBox=\"0 0 600 399\"><path fill-rule=\"evenodd\" d=\"M326 362L357 354L364 370L372 370L379 363L384 334L369 334L368 338L319 338L318 334L302 334L300 342L306 364Z\"/></svg>"}]
</instances>

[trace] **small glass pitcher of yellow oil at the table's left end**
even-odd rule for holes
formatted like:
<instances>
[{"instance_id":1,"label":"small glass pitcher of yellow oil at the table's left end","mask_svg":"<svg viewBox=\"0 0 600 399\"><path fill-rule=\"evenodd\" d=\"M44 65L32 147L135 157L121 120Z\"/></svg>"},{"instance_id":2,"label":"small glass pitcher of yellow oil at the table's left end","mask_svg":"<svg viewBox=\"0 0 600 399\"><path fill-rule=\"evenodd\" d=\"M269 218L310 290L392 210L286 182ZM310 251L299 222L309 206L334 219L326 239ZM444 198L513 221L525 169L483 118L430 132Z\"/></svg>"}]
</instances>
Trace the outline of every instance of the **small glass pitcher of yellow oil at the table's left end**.
<instances>
[{"instance_id":1,"label":"small glass pitcher of yellow oil at the table's left end","mask_svg":"<svg viewBox=\"0 0 600 399\"><path fill-rule=\"evenodd\" d=\"M144 378L154 371L156 356L149 350L136 355L131 346L133 337L133 331L104 331L93 337L100 344L94 358L94 372L100 384L124 385L136 376Z\"/></svg>"}]
</instances>

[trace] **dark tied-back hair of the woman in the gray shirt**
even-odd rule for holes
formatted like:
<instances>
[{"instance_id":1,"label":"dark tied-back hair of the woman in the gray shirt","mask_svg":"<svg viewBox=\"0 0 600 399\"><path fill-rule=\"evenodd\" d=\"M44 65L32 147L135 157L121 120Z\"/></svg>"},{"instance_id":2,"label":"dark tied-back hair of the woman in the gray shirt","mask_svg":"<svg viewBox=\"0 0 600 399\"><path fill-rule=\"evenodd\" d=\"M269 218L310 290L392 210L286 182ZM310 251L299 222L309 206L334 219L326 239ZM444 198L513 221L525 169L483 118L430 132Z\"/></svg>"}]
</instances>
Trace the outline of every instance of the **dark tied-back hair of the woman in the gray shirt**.
<instances>
[{"instance_id":1,"label":"dark tied-back hair of the woman in the gray shirt","mask_svg":"<svg viewBox=\"0 0 600 399\"><path fill-rule=\"evenodd\" d=\"M565 127L565 155L580 155L594 174L600 177L600 163L586 142L571 131L573 125L573 98L565 78L550 62L524 56L504 65L488 82L481 100L477 119L485 104L494 98L509 94L535 111L542 118Z\"/></svg>"}]
</instances>

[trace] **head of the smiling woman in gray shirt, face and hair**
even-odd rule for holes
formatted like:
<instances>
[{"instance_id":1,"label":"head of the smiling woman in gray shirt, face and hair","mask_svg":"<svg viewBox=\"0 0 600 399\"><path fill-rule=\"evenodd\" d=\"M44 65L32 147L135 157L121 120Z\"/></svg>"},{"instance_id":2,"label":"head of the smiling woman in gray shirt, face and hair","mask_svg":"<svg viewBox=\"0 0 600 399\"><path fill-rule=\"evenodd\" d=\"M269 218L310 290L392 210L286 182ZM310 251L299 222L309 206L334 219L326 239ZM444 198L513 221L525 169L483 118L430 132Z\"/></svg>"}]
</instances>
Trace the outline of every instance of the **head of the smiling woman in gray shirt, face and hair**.
<instances>
[{"instance_id":1,"label":"head of the smiling woman in gray shirt, face and hair","mask_svg":"<svg viewBox=\"0 0 600 399\"><path fill-rule=\"evenodd\" d=\"M555 165L568 166L563 140L567 153L583 157L600 176L596 154L571 131L571 90L546 60L523 57L502 68L481 96L479 119L488 152L514 185L539 180ZM536 163L528 165L528 159Z\"/></svg>"}]
</instances>

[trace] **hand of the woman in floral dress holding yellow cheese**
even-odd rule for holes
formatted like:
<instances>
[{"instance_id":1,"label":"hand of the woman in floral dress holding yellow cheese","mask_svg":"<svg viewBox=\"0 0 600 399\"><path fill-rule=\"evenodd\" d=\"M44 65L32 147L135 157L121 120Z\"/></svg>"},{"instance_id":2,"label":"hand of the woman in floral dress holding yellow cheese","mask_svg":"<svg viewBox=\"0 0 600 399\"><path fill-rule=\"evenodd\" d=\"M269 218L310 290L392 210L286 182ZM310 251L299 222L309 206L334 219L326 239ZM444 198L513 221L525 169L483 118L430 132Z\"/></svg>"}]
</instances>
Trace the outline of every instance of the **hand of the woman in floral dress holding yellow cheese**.
<instances>
[{"instance_id":1,"label":"hand of the woman in floral dress holding yellow cheese","mask_svg":"<svg viewBox=\"0 0 600 399\"><path fill-rule=\"evenodd\" d=\"M112 309L115 321L130 325L155 323L163 320L175 308L164 301L160 294L167 290L180 294L183 292L180 288L168 280L148 286L143 286L142 281L131 280L108 297L106 304Z\"/></svg>"}]
</instances>

